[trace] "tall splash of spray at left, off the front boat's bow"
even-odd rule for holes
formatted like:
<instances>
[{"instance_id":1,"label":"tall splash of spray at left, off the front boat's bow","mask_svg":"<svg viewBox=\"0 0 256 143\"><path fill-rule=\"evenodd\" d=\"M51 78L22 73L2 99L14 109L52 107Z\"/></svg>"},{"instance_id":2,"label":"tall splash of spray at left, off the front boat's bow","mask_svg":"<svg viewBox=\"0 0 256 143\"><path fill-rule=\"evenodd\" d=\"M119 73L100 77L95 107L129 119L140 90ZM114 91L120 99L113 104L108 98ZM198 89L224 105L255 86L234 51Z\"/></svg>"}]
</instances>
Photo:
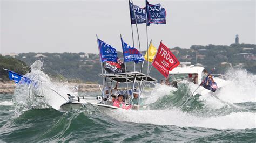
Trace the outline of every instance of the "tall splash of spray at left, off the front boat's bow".
<instances>
[{"instance_id":1,"label":"tall splash of spray at left, off the front boat's bow","mask_svg":"<svg viewBox=\"0 0 256 143\"><path fill-rule=\"evenodd\" d=\"M30 82L19 82L16 85L12 102L15 105L16 115L21 115L23 112L30 109L44 109L52 108L59 109L59 106L65 102L65 100L53 92L51 89L55 89L56 85L50 81L50 78L41 71L43 63L39 60L35 61L30 67L31 72L24 75L23 79L29 78ZM62 91L65 91L65 87L58 92L62 95Z\"/></svg>"}]
</instances>

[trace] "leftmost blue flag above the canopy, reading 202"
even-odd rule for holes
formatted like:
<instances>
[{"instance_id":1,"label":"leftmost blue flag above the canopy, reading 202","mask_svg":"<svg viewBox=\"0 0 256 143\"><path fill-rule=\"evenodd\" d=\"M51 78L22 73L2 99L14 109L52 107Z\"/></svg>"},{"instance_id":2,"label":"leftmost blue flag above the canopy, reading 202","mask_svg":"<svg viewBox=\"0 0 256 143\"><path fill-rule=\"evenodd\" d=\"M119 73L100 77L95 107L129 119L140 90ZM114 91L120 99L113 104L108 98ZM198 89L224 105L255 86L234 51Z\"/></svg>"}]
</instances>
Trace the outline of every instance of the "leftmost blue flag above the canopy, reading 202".
<instances>
[{"instance_id":1,"label":"leftmost blue flag above the canopy, reading 202","mask_svg":"<svg viewBox=\"0 0 256 143\"><path fill-rule=\"evenodd\" d=\"M111 45L103 42L102 40L98 39L99 42L99 51L100 51L100 61L112 61L117 62L117 51Z\"/></svg>"}]
</instances>

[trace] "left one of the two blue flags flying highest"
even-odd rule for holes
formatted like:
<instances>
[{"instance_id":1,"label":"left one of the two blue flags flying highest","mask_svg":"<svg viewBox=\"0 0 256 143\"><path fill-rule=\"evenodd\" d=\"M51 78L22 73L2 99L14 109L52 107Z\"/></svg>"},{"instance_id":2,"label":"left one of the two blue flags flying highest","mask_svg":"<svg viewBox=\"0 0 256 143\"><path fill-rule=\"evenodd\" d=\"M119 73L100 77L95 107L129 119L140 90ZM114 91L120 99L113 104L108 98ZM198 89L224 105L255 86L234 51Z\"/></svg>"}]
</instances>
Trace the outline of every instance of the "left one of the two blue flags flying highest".
<instances>
[{"instance_id":1,"label":"left one of the two blue flags flying highest","mask_svg":"<svg viewBox=\"0 0 256 143\"><path fill-rule=\"evenodd\" d=\"M133 5L135 15L136 15L136 20L134 16L134 11L132 10L132 3L129 1L130 4L130 17L131 17L131 24L136 24L137 23L147 23L147 16L146 16L146 8L140 8L137 5Z\"/></svg>"}]
</instances>

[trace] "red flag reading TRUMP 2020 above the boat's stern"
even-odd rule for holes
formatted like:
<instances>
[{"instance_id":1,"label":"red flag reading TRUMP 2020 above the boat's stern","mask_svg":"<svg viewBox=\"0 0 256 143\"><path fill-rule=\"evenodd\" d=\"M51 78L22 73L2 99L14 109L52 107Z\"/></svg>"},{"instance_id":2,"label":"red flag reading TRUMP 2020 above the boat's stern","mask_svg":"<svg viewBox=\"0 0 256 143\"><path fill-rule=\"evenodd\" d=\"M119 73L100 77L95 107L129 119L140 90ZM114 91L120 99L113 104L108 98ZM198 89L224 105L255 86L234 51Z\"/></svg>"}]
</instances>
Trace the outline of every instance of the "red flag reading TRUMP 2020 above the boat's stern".
<instances>
[{"instance_id":1,"label":"red flag reading TRUMP 2020 above the boat's stern","mask_svg":"<svg viewBox=\"0 0 256 143\"><path fill-rule=\"evenodd\" d=\"M168 77L169 71L179 65L178 59L172 54L162 42L160 42L158 52L153 61L153 66L165 77Z\"/></svg>"}]
</instances>

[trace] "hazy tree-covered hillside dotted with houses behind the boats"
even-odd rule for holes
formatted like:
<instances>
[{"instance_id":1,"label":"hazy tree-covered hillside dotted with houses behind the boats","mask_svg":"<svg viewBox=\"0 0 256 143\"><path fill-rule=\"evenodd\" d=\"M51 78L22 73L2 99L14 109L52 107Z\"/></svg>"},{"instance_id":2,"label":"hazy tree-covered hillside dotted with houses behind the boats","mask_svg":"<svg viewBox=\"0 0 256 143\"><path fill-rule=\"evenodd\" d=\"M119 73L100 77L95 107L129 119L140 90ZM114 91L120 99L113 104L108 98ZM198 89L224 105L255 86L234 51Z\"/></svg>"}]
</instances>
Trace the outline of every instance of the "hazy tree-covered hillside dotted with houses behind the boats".
<instances>
[{"instance_id":1,"label":"hazy tree-covered hillside dotted with houses behind the boats","mask_svg":"<svg viewBox=\"0 0 256 143\"><path fill-rule=\"evenodd\" d=\"M256 73L256 45L254 44L231 44L226 45L192 45L190 49L175 47L171 49L180 62L191 62L193 65L204 66L207 70L214 67L215 73L224 74L230 67L245 68L249 72ZM145 55L146 51L142 51ZM197 54L196 54L197 53ZM196 57L197 55L197 57ZM118 56L123 60L123 53L118 52ZM1 69L14 70L17 73L25 74L29 67L36 60L43 62L43 71L56 80L66 80L70 82L101 83L102 78L98 54L89 53L21 53L15 58L0 56ZM25 64L26 63L26 64ZM136 71L139 71L139 64ZM143 73L146 73L146 62L143 66ZM151 63L150 63L151 66ZM133 62L126 64L128 71L133 71ZM1 77L6 80L1 70ZM164 78L155 68L152 68L151 76L158 81Z\"/></svg>"}]
</instances>

